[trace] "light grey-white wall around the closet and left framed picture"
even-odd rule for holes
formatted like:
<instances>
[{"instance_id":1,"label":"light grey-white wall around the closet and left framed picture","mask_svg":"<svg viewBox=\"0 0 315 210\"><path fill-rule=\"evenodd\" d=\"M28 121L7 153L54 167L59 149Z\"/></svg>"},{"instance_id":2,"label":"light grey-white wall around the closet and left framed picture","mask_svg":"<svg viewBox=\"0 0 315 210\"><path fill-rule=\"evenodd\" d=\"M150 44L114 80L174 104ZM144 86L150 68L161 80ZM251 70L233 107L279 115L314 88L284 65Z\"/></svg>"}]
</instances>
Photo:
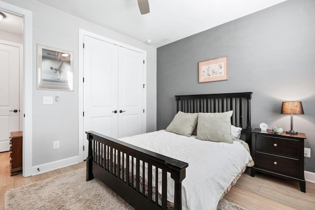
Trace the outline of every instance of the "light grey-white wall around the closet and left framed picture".
<instances>
[{"instance_id":1,"label":"light grey-white wall around the closet and left framed picture","mask_svg":"<svg viewBox=\"0 0 315 210\"><path fill-rule=\"evenodd\" d=\"M147 51L147 131L156 130L156 74L157 50L126 35L79 19L36 0L3 0L32 11L32 166L71 159L78 148L78 39L79 28L117 40ZM37 90L37 44L73 52L74 91ZM43 96L60 96L53 105L43 105ZM53 150L53 142L60 141L60 149ZM56 166L56 164L55 164ZM53 168L43 167L46 170ZM40 173L43 171L40 171ZM36 173L36 172L34 172Z\"/></svg>"}]
</instances>

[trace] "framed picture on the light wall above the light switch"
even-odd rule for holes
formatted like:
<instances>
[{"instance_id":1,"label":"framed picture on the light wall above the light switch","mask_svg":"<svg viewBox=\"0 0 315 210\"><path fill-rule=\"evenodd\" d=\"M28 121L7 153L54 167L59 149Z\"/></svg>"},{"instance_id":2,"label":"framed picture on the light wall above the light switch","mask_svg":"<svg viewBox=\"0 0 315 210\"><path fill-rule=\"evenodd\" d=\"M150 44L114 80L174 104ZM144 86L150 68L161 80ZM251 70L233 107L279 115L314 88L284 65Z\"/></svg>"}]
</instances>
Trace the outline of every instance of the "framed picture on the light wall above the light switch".
<instances>
[{"instance_id":1,"label":"framed picture on the light wall above the light switch","mask_svg":"<svg viewBox=\"0 0 315 210\"><path fill-rule=\"evenodd\" d=\"M37 44L37 89L73 91L73 53Z\"/></svg>"}]
</instances>

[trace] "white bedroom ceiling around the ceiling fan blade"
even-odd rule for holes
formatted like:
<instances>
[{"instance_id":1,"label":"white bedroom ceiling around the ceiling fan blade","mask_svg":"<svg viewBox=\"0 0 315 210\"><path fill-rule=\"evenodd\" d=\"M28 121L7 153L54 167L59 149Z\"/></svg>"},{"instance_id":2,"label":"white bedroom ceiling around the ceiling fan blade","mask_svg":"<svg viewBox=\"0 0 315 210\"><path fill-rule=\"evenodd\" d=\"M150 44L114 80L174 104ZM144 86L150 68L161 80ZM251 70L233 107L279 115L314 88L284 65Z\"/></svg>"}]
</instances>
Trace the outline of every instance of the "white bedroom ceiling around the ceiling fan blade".
<instances>
[{"instance_id":1,"label":"white bedroom ceiling around the ceiling fan blade","mask_svg":"<svg viewBox=\"0 0 315 210\"><path fill-rule=\"evenodd\" d=\"M137 0L37 1L141 42L151 39L152 46L160 47L285 0L149 0L150 13L145 15ZM13 28L1 25L0 30Z\"/></svg>"}]
</instances>

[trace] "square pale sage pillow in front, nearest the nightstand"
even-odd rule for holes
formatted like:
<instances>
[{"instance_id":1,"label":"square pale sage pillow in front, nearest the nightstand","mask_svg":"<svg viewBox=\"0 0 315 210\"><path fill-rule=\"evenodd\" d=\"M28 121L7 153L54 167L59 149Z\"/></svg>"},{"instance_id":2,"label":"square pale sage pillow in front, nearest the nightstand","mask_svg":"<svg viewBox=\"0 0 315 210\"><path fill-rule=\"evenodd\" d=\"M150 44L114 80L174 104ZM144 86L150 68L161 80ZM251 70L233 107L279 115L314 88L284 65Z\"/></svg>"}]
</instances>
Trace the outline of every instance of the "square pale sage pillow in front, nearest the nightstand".
<instances>
[{"instance_id":1,"label":"square pale sage pillow in front, nearest the nightstand","mask_svg":"<svg viewBox=\"0 0 315 210\"><path fill-rule=\"evenodd\" d=\"M222 113L199 113L196 139L233 144L231 116L233 111Z\"/></svg>"}]
</instances>

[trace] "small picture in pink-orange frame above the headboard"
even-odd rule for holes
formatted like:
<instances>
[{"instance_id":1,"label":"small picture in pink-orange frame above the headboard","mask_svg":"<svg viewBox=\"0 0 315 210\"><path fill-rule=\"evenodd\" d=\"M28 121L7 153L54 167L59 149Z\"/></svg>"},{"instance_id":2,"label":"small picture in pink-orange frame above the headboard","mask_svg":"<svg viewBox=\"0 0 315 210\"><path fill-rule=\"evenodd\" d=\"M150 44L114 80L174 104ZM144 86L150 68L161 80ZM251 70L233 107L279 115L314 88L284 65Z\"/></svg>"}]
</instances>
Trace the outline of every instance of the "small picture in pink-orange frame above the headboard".
<instances>
[{"instance_id":1,"label":"small picture in pink-orange frame above the headboard","mask_svg":"<svg viewBox=\"0 0 315 210\"><path fill-rule=\"evenodd\" d=\"M227 80L227 57L199 62L199 83Z\"/></svg>"}]
</instances>

